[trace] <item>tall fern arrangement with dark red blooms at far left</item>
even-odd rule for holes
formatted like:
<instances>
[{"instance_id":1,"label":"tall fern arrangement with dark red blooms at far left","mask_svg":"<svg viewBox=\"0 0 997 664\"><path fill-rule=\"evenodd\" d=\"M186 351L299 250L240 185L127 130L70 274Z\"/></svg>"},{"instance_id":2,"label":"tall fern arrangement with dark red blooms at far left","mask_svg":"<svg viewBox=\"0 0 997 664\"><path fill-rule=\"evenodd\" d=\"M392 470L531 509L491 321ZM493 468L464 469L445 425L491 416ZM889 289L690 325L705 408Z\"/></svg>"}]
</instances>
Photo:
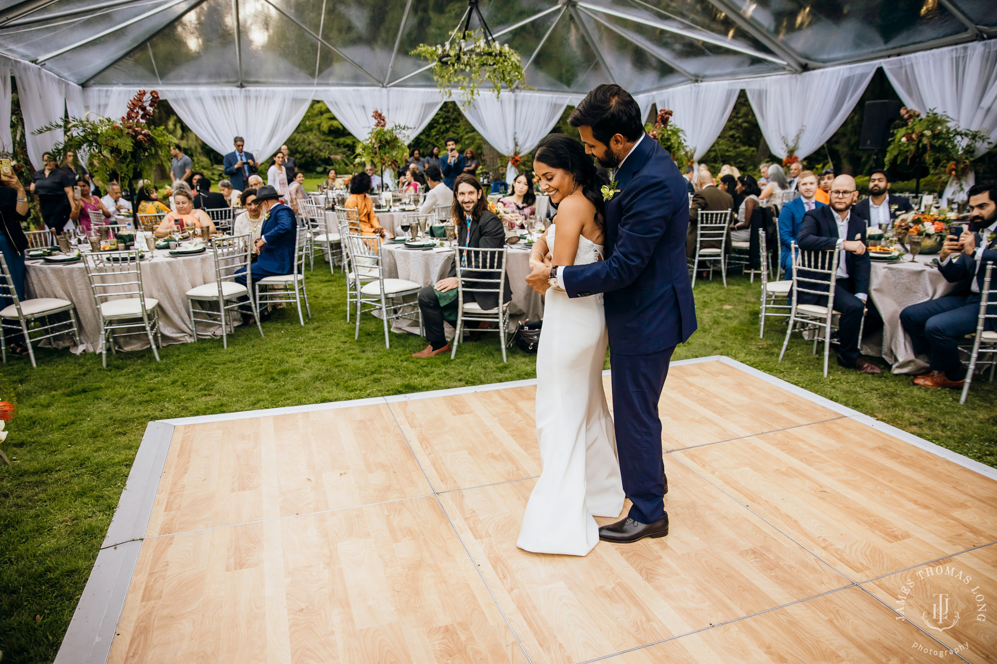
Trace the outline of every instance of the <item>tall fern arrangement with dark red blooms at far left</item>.
<instances>
[{"instance_id":1,"label":"tall fern arrangement with dark red blooms at far left","mask_svg":"<svg viewBox=\"0 0 997 664\"><path fill-rule=\"evenodd\" d=\"M118 181L135 200L135 180L153 181L157 166L169 167L169 146L174 139L165 128L149 124L160 103L160 93L140 90L128 103L128 111L115 120L70 118L39 128L35 134L63 131L64 140L57 152L73 150L87 155L87 167L94 179L105 187ZM146 184L147 189L152 184ZM137 210L133 210L135 214ZM135 219L133 219L135 221Z\"/></svg>"}]
</instances>

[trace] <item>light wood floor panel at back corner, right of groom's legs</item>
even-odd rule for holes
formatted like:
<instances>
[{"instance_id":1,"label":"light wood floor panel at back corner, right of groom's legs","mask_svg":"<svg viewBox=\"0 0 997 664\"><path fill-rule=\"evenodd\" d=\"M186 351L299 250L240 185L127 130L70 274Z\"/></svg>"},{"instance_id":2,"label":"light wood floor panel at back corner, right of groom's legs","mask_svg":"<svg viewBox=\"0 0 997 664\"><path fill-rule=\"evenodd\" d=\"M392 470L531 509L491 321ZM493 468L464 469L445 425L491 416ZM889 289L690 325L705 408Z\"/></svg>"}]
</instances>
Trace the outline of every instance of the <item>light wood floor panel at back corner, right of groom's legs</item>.
<instances>
[{"instance_id":1,"label":"light wood floor panel at back corner, right of groom's legs","mask_svg":"<svg viewBox=\"0 0 997 664\"><path fill-rule=\"evenodd\" d=\"M611 402L610 377L603 377ZM841 415L723 362L672 367L661 400L665 450L754 436Z\"/></svg>"}]
</instances>

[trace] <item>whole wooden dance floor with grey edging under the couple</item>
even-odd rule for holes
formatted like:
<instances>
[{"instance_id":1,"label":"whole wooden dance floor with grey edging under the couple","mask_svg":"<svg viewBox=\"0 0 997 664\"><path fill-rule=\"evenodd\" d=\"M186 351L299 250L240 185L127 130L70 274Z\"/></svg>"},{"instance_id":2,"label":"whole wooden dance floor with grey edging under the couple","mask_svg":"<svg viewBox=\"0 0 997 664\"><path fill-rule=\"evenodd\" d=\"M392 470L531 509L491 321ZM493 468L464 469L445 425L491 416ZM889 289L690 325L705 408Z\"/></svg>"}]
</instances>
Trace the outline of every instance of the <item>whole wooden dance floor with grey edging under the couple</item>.
<instances>
[{"instance_id":1,"label":"whole wooden dance floor with grey edging under the couple","mask_svg":"<svg viewBox=\"0 0 997 664\"><path fill-rule=\"evenodd\" d=\"M997 662L993 469L687 361L670 534L527 553L534 395L151 423L56 661Z\"/></svg>"}]
</instances>

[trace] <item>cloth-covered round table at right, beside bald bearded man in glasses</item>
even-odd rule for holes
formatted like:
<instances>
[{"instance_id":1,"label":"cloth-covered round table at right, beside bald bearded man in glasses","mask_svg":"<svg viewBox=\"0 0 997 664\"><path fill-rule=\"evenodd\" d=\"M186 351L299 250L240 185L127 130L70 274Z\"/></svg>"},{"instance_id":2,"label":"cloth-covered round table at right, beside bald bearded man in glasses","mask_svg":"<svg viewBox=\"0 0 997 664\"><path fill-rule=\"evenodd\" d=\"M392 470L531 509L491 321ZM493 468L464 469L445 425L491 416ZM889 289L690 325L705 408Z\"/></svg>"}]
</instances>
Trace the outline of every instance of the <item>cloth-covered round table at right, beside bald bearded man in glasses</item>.
<instances>
[{"instance_id":1,"label":"cloth-covered round table at right, beside bald bearded man in glasses","mask_svg":"<svg viewBox=\"0 0 997 664\"><path fill-rule=\"evenodd\" d=\"M949 283L932 264L937 255L917 255L914 262L904 256L899 262L873 259L869 274L869 298L882 316L882 340L866 338L862 353L882 357L894 374L918 374L928 365L914 355L910 337L900 326L900 312L918 302L949 295L958 284Z\"/></svg>"}]
</instances>

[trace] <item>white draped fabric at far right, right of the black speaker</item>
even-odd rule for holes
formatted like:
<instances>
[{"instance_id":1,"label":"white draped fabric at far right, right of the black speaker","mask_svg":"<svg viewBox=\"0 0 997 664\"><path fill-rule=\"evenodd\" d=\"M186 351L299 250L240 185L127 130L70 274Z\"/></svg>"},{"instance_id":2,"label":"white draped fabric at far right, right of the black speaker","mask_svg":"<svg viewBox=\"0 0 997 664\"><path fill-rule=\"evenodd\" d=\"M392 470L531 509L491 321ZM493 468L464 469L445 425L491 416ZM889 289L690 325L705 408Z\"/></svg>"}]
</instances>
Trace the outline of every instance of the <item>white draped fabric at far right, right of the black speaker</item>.
<instances>
[{"instance_id":1,"label":"white draped fabric at far right, right of the black speaker","mask_svg":"<svg viewBox=\"0 0 997 664\"><path fill-rule=\"evenodd\" d=\"M985 132L997 140L997 42L974 42L933 51L911 53L882 61L882 69L904 105L925 113L944 113L962 129ZM976 157L987 152L979 146ZM970 173L962 182L975 181ZM959 188L945 187L943 198Z\"/></svg>"}]
</instances>

